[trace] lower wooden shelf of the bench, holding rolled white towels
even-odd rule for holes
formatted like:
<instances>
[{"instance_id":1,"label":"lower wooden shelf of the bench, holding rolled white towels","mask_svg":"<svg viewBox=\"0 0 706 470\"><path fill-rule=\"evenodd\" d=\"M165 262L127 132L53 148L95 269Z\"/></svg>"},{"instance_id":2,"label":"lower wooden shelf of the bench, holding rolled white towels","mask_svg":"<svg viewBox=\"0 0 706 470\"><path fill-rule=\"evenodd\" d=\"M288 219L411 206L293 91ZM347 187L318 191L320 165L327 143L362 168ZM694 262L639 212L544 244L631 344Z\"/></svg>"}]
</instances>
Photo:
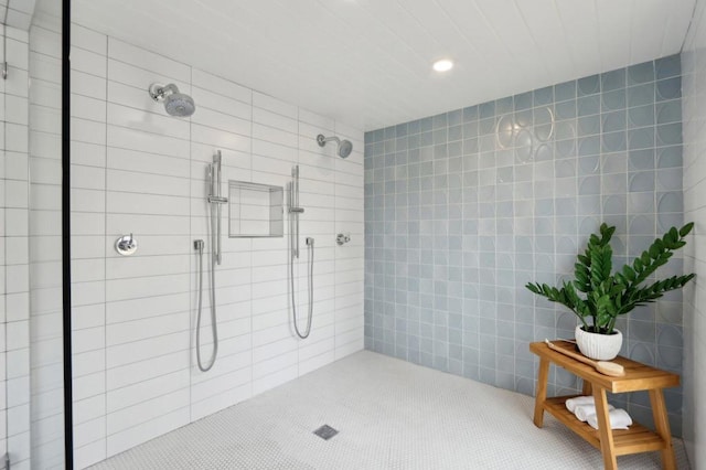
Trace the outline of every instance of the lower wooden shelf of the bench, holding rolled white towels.
<instances>
[{"instance_id":1,"label":"lower wooden shelf of the bench, holding rolled white towels","mask_svg":"<svg viewBox=\"0 0 706 470\"><path fill-rule=\"evenodd\" d=\"M544 409L582 437L588 444L600 450L599 431L590 425L579 421L576 416L566 408L566 400L575 396L577 395L547 398L544 402ZM633 421L630 429L613 429L612 432L616 456L649 452L667 448L664 439L639 423Z\"/></svg>"}]
</instances>

